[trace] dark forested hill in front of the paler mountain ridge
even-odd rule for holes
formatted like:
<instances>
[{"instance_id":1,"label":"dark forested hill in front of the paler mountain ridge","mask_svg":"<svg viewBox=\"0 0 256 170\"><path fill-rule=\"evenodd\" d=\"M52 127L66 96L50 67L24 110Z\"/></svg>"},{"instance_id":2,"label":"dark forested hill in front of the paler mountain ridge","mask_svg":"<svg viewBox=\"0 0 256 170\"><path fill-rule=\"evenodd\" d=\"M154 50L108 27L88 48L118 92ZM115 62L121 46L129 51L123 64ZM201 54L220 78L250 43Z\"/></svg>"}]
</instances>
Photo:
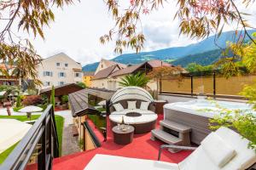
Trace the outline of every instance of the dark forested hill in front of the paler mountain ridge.
<instances>
[{"instance_id":1,"label":"dark forested hill in front of the paler mountain ridge","mask_svg":"<svg viewBox=\"0 0 256 170\"><path fill-rule=\"evenodd\" d=\"M214 49L201 54L187 55L183 58L172 61L172 65L181 65L186 67L189 63L197 63L199 65L212 65L219 57L221 57L222 50Z\"/></svg>"}]
</instances>

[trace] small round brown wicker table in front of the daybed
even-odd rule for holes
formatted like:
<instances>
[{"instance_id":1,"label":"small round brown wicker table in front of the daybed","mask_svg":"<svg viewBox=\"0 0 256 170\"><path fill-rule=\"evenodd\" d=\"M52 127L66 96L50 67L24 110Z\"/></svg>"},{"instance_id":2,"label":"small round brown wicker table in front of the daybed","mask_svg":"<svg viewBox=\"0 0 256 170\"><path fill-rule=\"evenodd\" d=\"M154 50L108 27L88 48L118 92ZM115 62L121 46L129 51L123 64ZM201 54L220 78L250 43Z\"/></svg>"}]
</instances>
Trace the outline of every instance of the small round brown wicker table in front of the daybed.
<instances>
[{"instance_id":1,"label":"small round brown wicker table in front of the daybed","mask_svg":"<svg viewBox=\"0 0 256 170\"><path fill-rule=\"evenodd\" d=\"M122 131L118 126L112 128L113 142L116 144L130 144L133 139L134 127L125 125L126 131Z\"/></svg>"}]
</instances>

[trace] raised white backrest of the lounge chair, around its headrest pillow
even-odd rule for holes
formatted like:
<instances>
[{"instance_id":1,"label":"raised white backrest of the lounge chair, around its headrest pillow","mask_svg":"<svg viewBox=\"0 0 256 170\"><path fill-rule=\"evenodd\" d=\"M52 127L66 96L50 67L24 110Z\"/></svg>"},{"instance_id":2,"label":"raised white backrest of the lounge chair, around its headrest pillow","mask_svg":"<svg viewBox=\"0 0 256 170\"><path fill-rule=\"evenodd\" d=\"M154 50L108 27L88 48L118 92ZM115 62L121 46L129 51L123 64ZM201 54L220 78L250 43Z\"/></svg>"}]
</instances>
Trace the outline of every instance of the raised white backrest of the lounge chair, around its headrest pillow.
<instances>
[{"instance_id":1,"label":"raised white backrest of the lounge chair, around its headrest pillow","mask_svg":"<svg viewBox=\"0 0 256 170\"><path fill-rule=\"evenodd\" d=\"M247 148L248 140L242 139L240 134L227 127L220 127L215 133L221 139L224 139L226 144L229 144L236 150L236 156L224 167L219 168L200 145L192 154L178 164L180 170L242 170L247 169L247 167L252 166L256 162L255 152ZM215 150L220 151L218 148Z\"/></svg>"}]
</instances>

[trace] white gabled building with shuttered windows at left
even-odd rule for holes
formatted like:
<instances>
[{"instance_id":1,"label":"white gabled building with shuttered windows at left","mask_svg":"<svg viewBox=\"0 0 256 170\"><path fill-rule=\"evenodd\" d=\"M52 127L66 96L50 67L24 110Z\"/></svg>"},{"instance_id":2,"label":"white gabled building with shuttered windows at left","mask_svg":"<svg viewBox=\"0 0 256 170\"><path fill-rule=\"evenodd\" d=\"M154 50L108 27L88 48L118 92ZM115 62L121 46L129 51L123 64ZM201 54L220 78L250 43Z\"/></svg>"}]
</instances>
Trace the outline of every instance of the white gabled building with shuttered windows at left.
<instances>
[{"instance_id":1,"label":"white gabled building with shuttered windows at left","mask_svg":"<svg viewBox=\"0 0 256 170\"><path fill-rule=\"evenodd\" d=\"M83 82L82 65L67 54L55 54L38 65L38 79L43 82L41 88Z\"/></svg>"}]
</instances>

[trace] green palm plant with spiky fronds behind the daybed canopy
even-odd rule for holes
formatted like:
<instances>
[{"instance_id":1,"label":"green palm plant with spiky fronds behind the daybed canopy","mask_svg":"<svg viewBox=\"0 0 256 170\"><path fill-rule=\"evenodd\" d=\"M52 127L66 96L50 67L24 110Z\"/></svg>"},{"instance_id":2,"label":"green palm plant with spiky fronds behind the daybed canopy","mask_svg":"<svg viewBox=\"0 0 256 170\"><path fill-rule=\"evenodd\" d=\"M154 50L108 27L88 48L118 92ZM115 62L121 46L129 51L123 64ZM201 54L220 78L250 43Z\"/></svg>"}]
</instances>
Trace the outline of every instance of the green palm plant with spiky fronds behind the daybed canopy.
<instances>
[{"instance_id":1,"label":"green palm plant with spiky fronds behind the daybed canopy","mask_svg":"<svg viewBox=\"0 0 256 170\"><path fill-rule=\"evenodd\" d=\"M149 79L146 77L145 73L137 72L137 74L131 74L122 77L119 85L122 87L137 86L145 88L148 82Z\"/></svg>"}]
</instances>

